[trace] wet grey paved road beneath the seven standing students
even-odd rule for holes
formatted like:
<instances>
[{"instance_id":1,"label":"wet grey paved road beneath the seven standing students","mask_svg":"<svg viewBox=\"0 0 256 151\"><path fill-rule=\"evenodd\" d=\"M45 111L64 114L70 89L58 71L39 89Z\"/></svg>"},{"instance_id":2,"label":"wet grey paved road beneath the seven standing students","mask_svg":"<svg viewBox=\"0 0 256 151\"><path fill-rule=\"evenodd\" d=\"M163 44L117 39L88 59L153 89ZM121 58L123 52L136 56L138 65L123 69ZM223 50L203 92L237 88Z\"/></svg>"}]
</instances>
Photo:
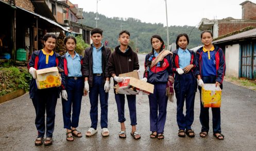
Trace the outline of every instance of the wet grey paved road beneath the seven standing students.
<instances>
[{"instance_id":1,"label":"wet grey paved road beneath the seven standing students","mask_svg":"<svg viewBox=\"0 0 256 151\"><path fill-rule=\"evenodd\" d=\"M142 72L144 71L144 58L145 55L139 55ZM142 73L140 77L142 77ZM100 133L97 133L92 137L85 137L85 132L90 127L91 121L89 97L83 97L78 127L83 137L75 138L74 142L67 142L63 128L62 105L59 99L56 107L53 145L48 147L43 145L35 146L34 140L37 137L34 124L35 109L27 93L19 98L0 104L0 150L255 150L256 147L256 93L229 82L224 82L221 107L221 130L225 135L225 140L223 141L213 137L211 128L207 138L199 137L201 127L199 122L199 92L196 94L195 120L192 125L196 133L195 138L178 137L176 103L168 102L165 139L150 139L148 98L145 95L138 95L136 106L137 129L142 138L134 140L129 135L131 126L129 124L127 103L125 107L126 131L128 133L126 139L118 137L120 124L117 122L113 89L110 90L109 94L110 136L103 138ZM98 123L98 130L100 130L99 125ZM210 127L212 127L212 124L210 124Z\"/></svg>"}]
</instances>

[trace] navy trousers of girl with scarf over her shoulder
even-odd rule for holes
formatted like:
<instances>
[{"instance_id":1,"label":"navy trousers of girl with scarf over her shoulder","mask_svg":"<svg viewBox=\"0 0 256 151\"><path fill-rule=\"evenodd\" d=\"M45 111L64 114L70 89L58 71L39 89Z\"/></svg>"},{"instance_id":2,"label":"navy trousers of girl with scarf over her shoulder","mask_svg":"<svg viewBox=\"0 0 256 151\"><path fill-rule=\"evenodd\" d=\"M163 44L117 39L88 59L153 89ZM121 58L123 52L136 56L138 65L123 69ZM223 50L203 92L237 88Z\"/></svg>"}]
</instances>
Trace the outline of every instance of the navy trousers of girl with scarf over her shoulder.
<instances>
[{"instance_id":1,"label":"navy trousers of girl with scarf over her shoulder","mask_svg":"<svg viewBox=\"0 0 256 151\"><path fill-rule=\"evenodd\" d=\"M150 131L160 134L164 132L168 97L165 95L166 83L155 83L154 85L153 94L150 93L148 96L150 107Z\"/></svg>"}]
</instances>

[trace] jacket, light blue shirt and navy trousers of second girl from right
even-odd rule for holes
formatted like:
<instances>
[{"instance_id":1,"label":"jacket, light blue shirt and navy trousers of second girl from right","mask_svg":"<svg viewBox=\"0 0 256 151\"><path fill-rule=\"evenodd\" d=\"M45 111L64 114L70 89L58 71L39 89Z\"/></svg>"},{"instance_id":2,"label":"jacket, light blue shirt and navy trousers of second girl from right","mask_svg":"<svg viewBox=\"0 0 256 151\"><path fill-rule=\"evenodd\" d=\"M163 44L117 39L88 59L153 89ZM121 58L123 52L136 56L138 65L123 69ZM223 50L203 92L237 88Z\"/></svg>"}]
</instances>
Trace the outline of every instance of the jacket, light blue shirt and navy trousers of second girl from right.
<instances>
[{"instance_id":1,"label":"jacket, light blue shirt and navy trousers of second girl from right","mask_svg":"<svg viewBox=\"0 0 256 151\"><path fill-rule=\"evenodd\" d=\"M174 90L177 99L177 123L179 130L191 130L194 121L194 102L197 81L193 70L195 69L195 53L191 50L177 49L173 52L173 71L175 73ZM194 67L188 73L179 75L177 68L192 64ZM186 101L186 114L183 114L184 101Z\"/></svg>"}]
</instances>

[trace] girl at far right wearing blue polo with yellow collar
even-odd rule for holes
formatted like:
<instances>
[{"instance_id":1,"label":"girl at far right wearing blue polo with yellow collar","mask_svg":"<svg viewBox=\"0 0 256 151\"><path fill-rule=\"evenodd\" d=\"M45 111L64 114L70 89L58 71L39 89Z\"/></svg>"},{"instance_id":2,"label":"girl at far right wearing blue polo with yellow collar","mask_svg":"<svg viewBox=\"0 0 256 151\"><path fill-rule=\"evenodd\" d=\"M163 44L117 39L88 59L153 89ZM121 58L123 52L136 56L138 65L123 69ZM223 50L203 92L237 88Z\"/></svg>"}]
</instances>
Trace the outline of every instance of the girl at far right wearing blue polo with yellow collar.
<instances>
[{"instance_id":1,"label":"girl at far right wearing blue polo with yellow collar","mask_svg":"<svg viewBox=\"0 0 256 151\"><path fill-rule=\"evenodd\" d=\"M201 33L203 47L196 52L196 71L198 79L198 89L201 96L204 83L214 83L215 87L223 88L223 79L226 70L226 63L223 50L212 45L213 34L211 31ZM201 100L201 97L200 97ZM201 102L201 101L200 101ZM200 103L200 122L202 125L200 137L206 137L209 132L209 107L204 107ZM219 140L224 139L220 128L220 107L212 107L213 136Z\"/></svg>"}]
</instances>

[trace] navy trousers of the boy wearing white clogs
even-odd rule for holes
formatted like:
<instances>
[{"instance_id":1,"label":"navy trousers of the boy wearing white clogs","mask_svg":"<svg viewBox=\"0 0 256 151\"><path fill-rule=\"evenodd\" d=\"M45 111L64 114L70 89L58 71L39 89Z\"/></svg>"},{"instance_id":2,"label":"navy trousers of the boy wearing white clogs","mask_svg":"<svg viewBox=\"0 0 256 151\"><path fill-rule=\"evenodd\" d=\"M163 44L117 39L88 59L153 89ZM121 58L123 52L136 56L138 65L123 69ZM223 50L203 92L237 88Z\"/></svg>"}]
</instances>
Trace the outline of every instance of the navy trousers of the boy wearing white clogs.
<instances>
[{"instance_id":1,"label":"navy trousers of the boy wearing white clogs","mask_svg":"<svg viewBox=\"0 0 256 151\"><path fill-rule=\"evenodd\" d=\"M91 127L95 130L98 124L98 97L100 101L100 126L108 128L108 98L109 93L106 93L103 85L103 76L93 76L93 87L90 87L89 98L91 103Z\"/></svg>"}]
</instances>

